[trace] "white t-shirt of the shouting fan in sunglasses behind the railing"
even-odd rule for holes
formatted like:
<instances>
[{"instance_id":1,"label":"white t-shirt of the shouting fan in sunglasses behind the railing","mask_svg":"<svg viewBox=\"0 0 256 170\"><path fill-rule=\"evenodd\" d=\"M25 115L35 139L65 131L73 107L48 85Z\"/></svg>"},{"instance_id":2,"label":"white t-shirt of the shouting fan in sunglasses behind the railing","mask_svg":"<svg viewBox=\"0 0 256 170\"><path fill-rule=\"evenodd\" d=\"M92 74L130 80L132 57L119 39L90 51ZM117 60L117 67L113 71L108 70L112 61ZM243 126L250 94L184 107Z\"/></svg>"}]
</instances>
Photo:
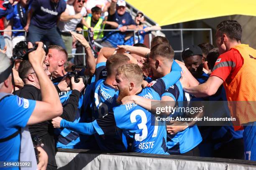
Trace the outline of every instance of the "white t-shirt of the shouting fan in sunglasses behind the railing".
<instances>
[{"instance_id":1,"label":"white t-shirt of the shouting fan in sunglasses behind the railing","mask_svg":"<svg viewBox=\"0 0 256 170\"><path fill-rule=\"evenodd\" d=\"M69 15L75 15L74 7L73 5L68 5L67 4L67 9L69 10ZM86 15L86 9L85 7L82 7L82 10L80 12L82 16ZM77 27L77 24L81 22L82 18L79 19L71 19L67 22L59 22L58 23L58 28L61 32L69 32L69 31L74 31Z\"/></svg>"}]
</instances>

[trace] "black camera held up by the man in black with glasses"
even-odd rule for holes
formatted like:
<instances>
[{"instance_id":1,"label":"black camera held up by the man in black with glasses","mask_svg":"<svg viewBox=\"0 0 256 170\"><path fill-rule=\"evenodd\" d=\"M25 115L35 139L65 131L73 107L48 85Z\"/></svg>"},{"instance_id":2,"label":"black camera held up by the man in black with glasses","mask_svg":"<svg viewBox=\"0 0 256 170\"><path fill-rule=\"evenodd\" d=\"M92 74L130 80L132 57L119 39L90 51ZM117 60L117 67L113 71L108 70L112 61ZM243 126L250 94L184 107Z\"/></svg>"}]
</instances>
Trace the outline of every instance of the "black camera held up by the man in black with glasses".
<instances>
[{"instance_id":1,"label":"black camera held up by the man in black with glasses","mask_svg":"<svg viewBox=\"0 0 256 170\"><path fill-rule=\"evenodd\" d=\"M84 85L87 86L90 82L90 76L89 75L84 75L84 69L87 68L86 66L83 65L77 65L77 66L72 66L72 72L67 73L67 78L71 80L71 77L74 77L74 82L79 82L79 78L83 79ZM77 70L79 69L79 70ZM70 85L69 85L70 86Z\"/></svg>"}]
</instances>

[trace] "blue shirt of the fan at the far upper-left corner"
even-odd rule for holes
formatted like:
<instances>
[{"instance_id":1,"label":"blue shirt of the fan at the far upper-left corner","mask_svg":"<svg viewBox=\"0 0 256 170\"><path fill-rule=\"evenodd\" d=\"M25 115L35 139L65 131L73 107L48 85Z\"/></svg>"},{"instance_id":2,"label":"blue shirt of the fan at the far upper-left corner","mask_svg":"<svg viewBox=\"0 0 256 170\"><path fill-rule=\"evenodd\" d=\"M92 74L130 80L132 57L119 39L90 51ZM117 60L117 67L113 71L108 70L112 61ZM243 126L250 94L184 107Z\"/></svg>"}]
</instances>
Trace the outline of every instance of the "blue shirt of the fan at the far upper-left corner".
<instances>
[{"instance_id":1,"label":"blue shirt of the fan at the far upper-left corner","mask_svg":"<svg viewBox=\"0 0 256 170\"><path fill-rule=\"evenodd\" d=\"M27 9L22 7L22 5L20 5L20 7L23 11L23 14L26 14L31 8L31 3L29 3ZM18 13L18 5L17 4L13 6L13 12L6 16L6 20L11 20L11 19L13 19L13 30L23 30L23 26L20 23L20 16ZM24 32L18 32L18 31L13 32L13 37L24 36L24 35L25 35Z\"/></svg>"}]
</instances>

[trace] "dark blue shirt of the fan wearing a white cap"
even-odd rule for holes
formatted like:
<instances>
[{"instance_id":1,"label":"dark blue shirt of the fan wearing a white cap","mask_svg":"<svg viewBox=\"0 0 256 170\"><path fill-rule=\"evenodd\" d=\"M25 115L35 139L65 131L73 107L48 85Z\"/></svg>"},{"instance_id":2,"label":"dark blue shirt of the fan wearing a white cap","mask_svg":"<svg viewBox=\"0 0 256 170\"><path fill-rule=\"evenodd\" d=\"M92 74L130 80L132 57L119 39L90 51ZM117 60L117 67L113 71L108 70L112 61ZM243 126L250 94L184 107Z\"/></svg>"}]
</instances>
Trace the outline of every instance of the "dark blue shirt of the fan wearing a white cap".
<instances>
[{"instance_id":1,"label":"dark blue shirt of the fan wearing a white cap","mask_svg":"<svg viewBox=\"0 0 256 170\"><path fill-rule=\"evenodd\" d=\"M118 15L117 11L113 15L108 16L108 21L113 21L118 23L119 27L125 25L136 25L131 15L125 12L123 15ZM105 29L112 29L112 28L105 28ZM113 47L117 47L117 45L123 45L124 43L125 32L120 31L108 31L105 32L104 37L102 38L103 41L110 42Z\"/></svg>"}]
</instances>

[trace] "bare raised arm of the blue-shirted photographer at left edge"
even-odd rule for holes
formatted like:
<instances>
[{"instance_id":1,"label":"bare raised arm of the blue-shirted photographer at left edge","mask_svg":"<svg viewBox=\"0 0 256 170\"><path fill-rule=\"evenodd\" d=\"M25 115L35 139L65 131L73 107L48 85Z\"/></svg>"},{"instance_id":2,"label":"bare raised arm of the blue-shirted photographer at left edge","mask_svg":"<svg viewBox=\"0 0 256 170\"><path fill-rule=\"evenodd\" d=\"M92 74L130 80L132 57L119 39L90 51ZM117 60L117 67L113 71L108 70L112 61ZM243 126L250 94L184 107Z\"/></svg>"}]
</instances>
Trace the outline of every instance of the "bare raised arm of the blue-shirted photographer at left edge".
<instances>
[{"instance_id":1,"label":"bare raised arm of the blue-shirted photographer at left edge","mask_svg":"<svg viewBox=\"0 0 256 170\"><path fill-rule=\"evenodd\" d=\"M43 69L43 61L46 54L43 50L43 42L37 42L37 44L37 49L28 54L28 59L36 72L41 88L42 101L36 101L35 109L29 117L27 125L33 125L38 122L50 120L54 117L60 116L63 111L59 94ZM29 42L28 48L32 47L32 43Z\"/></svg>"}]
</instances>

